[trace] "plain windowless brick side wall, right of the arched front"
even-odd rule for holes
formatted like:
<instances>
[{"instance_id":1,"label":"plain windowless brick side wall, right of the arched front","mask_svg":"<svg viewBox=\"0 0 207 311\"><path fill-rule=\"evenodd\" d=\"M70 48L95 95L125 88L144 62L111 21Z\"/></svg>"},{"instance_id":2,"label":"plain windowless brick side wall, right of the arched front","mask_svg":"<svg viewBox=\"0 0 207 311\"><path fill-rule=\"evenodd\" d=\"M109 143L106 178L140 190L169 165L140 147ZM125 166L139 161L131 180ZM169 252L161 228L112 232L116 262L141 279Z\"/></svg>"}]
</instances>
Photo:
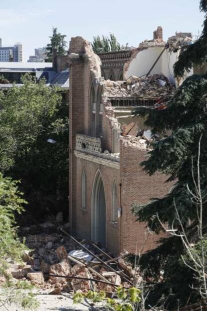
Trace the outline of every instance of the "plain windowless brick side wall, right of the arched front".
<instances>
[{"instance_id":1,"label":"plain windowless brick side wall, right of the arched front","mask_svg":"<svg viewBox=\"0 0 207 311\"><path fill-rule=\"evenodd\" d=\"M144 160L146 151L138 149L120 140L120 174L121 174L121 247L120 250L129 252L139 252L154 248L156 241L163 235L150 234L145 228L145 224L135 222L135 217L131 214L131 205L134 202L143 204L153 197L164 196L171 184L166 184L166 176L155 173L147 175L139 165ZM146 237L148 236L147 240Z\"/></svg>"}]
</instances>

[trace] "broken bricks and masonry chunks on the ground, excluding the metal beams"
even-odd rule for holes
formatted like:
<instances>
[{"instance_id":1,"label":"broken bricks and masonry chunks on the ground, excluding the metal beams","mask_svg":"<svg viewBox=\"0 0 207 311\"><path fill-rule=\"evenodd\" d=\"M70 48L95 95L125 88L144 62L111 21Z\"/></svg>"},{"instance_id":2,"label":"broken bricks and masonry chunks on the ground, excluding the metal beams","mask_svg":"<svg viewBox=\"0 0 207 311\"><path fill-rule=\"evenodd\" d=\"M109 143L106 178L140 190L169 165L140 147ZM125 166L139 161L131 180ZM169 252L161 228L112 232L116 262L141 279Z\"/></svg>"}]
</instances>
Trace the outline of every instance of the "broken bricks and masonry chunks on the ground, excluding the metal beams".
<instances>
[{"instance_id":1,"label":"broken bricks and masonry chunks on the ground, excluding the metal beams","mask_svg":"<svg viewBox=\"0 0 207 311\"><path fill-rule=\"evenodd\" d=\"M108 270L108 268L102 264L98 265L97 259L95 259L95 262L91 265L90 261L94 258L93 255L87 254L87 251L84 249L82 250L78 241L76 242L62 234L62 232L58 230L59 222L54 222L53 224L55 225L56 232L51 232L52 223L50 223L48 226L49 234L46 232L46 227L44 225L41 226L41 228L43 228L41 231L43 232L39 232L38 234L35 231L35 226L31 226L31 231L34 234L29 234L30 231L28 227L21 228L20 234L23 235L27 232L26 243L28 246L32 246L33 249L29 252L26 251L22 256L24 264L13 264L7 270L7 274L10 274L16 279L27 279L39 288L50 289L50 294L60 294L62 291L73 292L76 290L86 292L91 288L94 289L94 281L66 279L60 276L75 276L99 280L105 279L111 284L96 282L95 288L96 290L104 290L106 292L113 292L115 290L112 284L124 284L124 286L129 286L129 283L127 283L121 275L118 275L119 272L116 273L110 269ZM36 225L36 229L39 230L39 225ZM51 244L49 248L48 243ZM89 242L83 241L82 243L84 247L91 249ZM94 254L100 255L99 250L93 249L93 251ZM74 256L78 254L79 257L72 257L68 255L68 253ZM101 255L100 258L103 261L108 260L107 256L104 257ZM77 261L79 261L79 263L77 263ZM127 270L131 269L127 264L123 265L123 259L120 262L122 270L126 270L127 272ZM88 267L94 267L94 272L91 272L87 264ZM117 269L117 271L119 270ZM52 275L56 275L56 277ZM132 275L129 275L128 279L129 282L130 280L132 281Z\"/></svg>"}]
</instances>

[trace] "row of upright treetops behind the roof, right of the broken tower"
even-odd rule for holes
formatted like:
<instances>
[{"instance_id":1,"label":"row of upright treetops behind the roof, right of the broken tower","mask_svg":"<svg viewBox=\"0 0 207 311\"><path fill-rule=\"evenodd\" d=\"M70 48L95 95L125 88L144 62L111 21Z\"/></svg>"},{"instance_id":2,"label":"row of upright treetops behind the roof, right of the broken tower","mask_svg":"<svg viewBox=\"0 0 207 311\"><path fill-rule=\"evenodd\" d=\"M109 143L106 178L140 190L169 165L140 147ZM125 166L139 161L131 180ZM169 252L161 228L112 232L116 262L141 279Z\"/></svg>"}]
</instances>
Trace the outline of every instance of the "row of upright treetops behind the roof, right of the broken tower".
<instances>
[{"instance_id":1,"label":"row of upright treetops behind the roof, right of the broken tower","mask_svg":"<svg viewBox=\"0 0 207 311\"><path fill-rule=\"evenodd\" d=\"M120 46L115 36L113 34L110 34L109 38L105 36L102 36L102 39L100 38L100 36L93 37L92 49L93 52L96 54L103 52L114 52L120 50L127 50L128 44L126 44L125 46Z\"/></svg>"}]
</instances>

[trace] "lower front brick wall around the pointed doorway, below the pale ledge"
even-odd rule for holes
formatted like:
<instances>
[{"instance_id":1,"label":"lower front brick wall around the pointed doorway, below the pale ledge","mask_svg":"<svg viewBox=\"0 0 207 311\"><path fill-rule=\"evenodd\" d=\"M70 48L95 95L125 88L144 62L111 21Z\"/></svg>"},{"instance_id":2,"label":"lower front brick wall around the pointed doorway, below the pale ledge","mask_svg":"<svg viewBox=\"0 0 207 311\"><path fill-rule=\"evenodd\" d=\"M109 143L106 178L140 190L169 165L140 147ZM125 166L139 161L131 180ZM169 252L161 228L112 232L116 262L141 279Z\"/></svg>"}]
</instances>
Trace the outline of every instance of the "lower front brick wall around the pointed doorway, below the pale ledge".
<instances>
[{"instance_id":1,"label":"lower front brick wall around the pointed doorway, below the pale ledge","mask_svg":"<svg viewBox=\"0 0 207 311\"><path fill-rule=\"evenodd\" d=\"M92 201L92 186L95 174L99 169L102 176L104 193L105 193L105 207L106 207L106 247L108 250L119 252L119 222L117 226L112 225L111 222L111 185L115 178L117 186L117 198L119 206L119 182L120 172L118 169L98 165L96 163L77 158L76 165L76 230L82 237L91 238L91 201ZM86 173L86 210L81 209L81 177L83 168Z\"/></svg>"}]
</instances>

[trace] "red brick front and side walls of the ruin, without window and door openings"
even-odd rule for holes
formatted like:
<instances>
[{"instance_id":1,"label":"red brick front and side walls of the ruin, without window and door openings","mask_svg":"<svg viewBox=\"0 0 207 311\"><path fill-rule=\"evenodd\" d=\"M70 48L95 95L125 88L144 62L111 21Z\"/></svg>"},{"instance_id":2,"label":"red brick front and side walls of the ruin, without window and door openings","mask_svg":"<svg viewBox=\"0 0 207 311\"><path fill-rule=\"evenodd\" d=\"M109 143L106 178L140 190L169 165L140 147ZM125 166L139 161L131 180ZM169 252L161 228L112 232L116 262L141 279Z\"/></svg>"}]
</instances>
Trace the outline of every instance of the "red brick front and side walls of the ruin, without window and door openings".
<instances>
[{"instance_id":1,"label":"red brick front and side walls of the ruin, without window and door openings","mask_svg":"<svg viewBox=\"0 0 207 311\"><path fill-rule=\"evenodd\" d=\"M82 147L77 153L75 145L76 134L90 134L89 94L92 81L100 80L100 64L97 56L91 51L89 44L80 37L72 38L70 42L70 82L69 82L69 217L71 230L82 237L91 239L92 227L92 193L96 173L99 172L105 195L106 213L106 247L119 253L124 250L139 252L155 246L157 236L150 234L145 241L145 224L135 222L130 213L131 204L146 203L151 197L161 197L167 193L166 177L155 174L151 177L145 174L139 163L146 155L145 149L131 146L127 138L120 140L120 155L118 159L112 155L96 152L91 153ZM97 98L98 98L97 91ZM99 97L100 98L100 97ZM104 105L104 102L102 102ZM112 130L110 118L104 109L102 114L102 151L112 149ZM86 206L81 203L83 169L86 174ZM113 181L117 187L117 207L121 207L122 215L117 224L111 223L111 186ZM121 198L120 198L121 197ZM143 245L144 244L144 245Z\"/></svg>"}]
</instances>

